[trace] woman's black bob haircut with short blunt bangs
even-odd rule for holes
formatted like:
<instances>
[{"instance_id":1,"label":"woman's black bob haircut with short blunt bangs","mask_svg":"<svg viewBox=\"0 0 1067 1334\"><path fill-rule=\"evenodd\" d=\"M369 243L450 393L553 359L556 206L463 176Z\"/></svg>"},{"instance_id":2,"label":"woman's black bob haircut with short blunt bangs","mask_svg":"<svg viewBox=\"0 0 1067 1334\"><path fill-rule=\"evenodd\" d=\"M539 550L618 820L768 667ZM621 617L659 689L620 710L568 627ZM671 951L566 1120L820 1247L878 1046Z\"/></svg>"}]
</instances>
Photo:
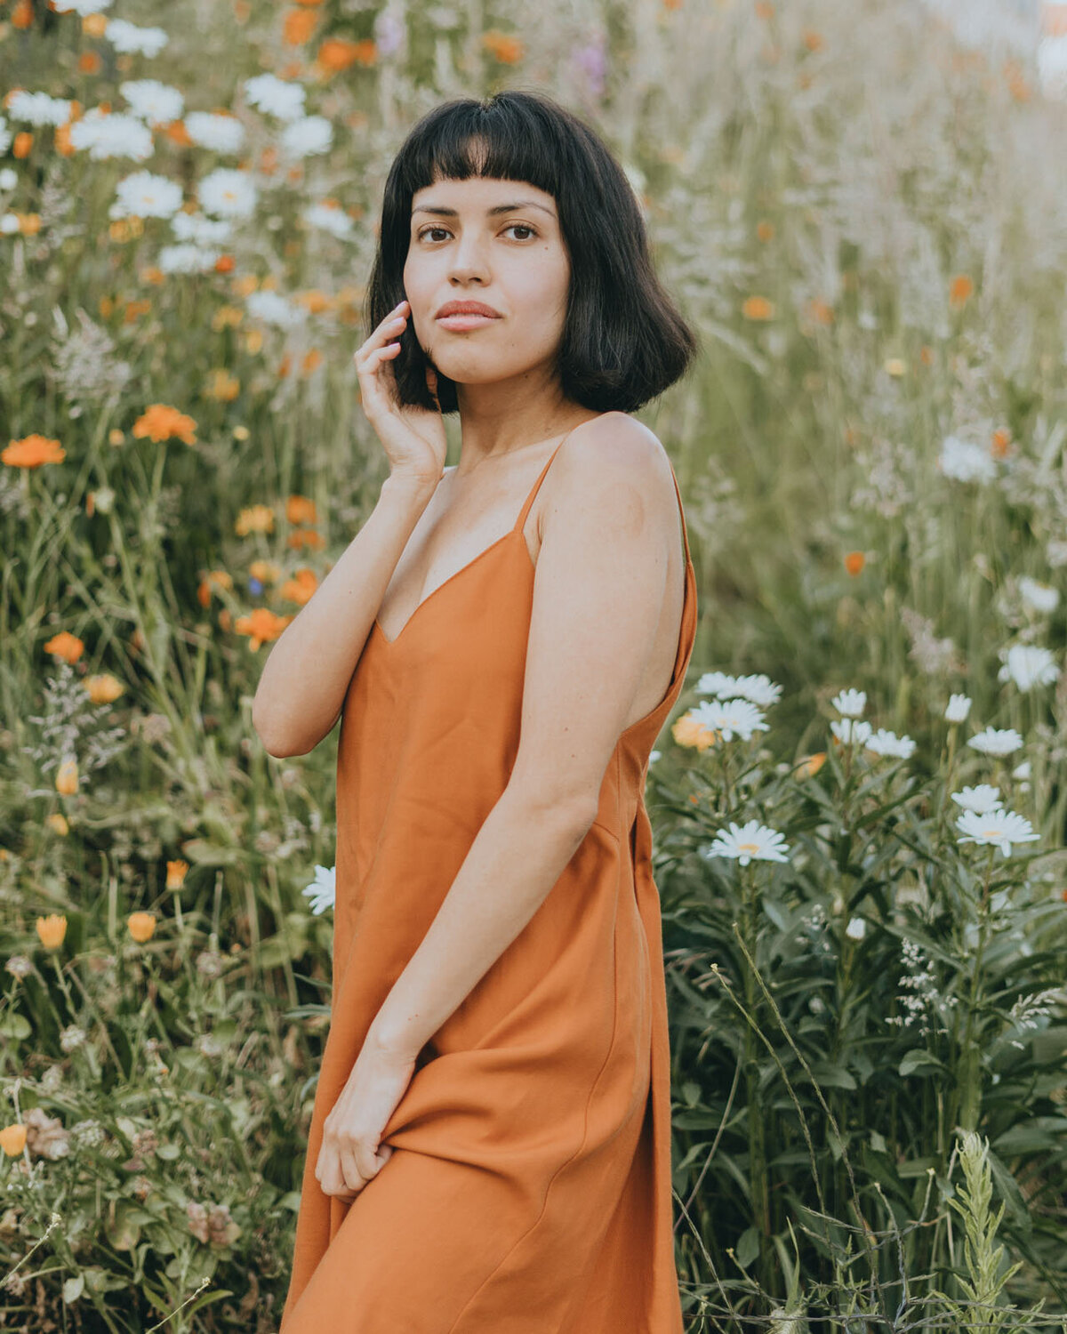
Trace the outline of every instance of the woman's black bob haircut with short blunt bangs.
<instances>
[{"instance_id":1,"label":"woman's black bob haircut with short blunt bangs","mask_svg":"<svg viewBox=\"0 0 1067 1334\"><path fill-rule=\"evenodd\" d=\"M516 89L443 103L401 144L385 180L364 301L368 336L404 300L412 195L439 179L471 176L528 181L556 201L571 261L556 354L568 400L595 412L634 412L684 375L699 340L656 277L626 173L582 120L551 97ZM389 364L401 406L437 407L411 320ZM441 412L459 410L455 380L440 372L437 400Z\"/></svg>"}]
</instances>

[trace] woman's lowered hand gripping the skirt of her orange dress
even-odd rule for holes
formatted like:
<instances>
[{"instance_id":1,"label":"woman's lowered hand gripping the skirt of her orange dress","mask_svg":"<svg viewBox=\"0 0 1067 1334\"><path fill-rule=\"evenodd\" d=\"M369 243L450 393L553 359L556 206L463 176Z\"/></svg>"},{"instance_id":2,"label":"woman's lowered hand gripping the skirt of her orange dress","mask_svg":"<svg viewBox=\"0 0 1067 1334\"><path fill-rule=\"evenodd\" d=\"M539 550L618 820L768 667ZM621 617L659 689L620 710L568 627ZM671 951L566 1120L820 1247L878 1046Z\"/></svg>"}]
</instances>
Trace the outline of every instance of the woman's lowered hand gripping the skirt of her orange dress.
<instances>
[{"instance_id":1,"label":"woman's lowered hand gripping the skirt of her orange dress","mask_svg":"<svg viewBox=\"0 0 1067 1334\"><path fill-rule=\"evenodd\" d=\"M315 1167L323 1194L351 1203L389 1161L392 1146L379 1153L379 1141L413 1073L415 1057L391 1051L367 1035L341 1095L323 1122Z\"/></svg>"}]
</instances>

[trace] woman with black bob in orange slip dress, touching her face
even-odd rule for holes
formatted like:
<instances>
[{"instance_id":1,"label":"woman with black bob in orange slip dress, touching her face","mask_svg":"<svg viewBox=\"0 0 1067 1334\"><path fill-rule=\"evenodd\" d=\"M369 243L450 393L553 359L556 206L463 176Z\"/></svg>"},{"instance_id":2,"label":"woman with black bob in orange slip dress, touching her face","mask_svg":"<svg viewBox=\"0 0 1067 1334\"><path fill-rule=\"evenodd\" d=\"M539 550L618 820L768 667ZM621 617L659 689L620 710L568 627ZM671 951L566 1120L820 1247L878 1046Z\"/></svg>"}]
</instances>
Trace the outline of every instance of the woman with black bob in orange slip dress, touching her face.
<instances>
[{"instance_id":1,"label":"woman with black bob in orange slip dress, touching her face","mask_svg":"<svg viewBox=\"0 0 1067 1334\"><path fill-rule=\"evenodd\" d=\"M275 755L343 718L281 1334L679 1334L643 791L696 590L670 460L627 414L696 340L608 149L516 91L408 136L368 327L389 476L253 708Z\"/></svg>"}]
</instances>

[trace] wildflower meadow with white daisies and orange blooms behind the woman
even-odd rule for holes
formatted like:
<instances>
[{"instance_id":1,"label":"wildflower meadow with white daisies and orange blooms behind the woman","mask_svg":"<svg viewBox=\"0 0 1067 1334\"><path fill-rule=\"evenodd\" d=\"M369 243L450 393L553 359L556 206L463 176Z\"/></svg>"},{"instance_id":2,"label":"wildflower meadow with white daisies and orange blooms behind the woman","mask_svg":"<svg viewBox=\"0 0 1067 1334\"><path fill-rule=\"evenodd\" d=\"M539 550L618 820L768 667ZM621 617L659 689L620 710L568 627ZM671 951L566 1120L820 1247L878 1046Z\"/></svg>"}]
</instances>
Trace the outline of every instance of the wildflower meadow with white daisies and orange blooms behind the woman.
<instances>
[{"instance_id":1,"label":"wildflower meadow with white daisies and orange blooms behind the woman","mask_svg":"<svg viewBox=\"0 0 1067 1334\"><path fill-rule=\"evenodd\" d=\"M687 1334L1067 1331L1067 7L942 9L0 0L0 1329L277 1329L336 751L252 696L388 474L392 155L520 87L703 344L640 414Z\"/></svg>"}]
</instances>

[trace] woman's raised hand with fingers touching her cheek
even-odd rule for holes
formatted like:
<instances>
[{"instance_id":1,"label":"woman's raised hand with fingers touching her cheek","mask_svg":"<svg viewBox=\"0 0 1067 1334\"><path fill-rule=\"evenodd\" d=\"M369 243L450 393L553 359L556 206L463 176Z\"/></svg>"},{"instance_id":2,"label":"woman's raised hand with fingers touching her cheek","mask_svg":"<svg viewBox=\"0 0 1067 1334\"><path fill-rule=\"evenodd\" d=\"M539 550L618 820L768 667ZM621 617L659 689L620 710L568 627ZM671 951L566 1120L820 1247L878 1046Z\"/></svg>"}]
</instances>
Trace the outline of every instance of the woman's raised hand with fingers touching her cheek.
<instances>
[{"instance_id":1,"label":"woman's raised hand with fingers touching her cheek","mask_svg":"<svg viewBox=\"0 0 1067 1334\"><path fill-rule=\"evenodd\" d=\"M396 376L389 362L400 351L399 338L411 316L407 300L393 307L355 354L363 411L385 447L389 476L405 476L421 486L436 486L444 475L448 440L440 408L428 411L401 407L396 394ZM391 342L396 339L397 342ZM437 378L427 367L427 388L437 396Z\"/></svg>"}]
</instances>

